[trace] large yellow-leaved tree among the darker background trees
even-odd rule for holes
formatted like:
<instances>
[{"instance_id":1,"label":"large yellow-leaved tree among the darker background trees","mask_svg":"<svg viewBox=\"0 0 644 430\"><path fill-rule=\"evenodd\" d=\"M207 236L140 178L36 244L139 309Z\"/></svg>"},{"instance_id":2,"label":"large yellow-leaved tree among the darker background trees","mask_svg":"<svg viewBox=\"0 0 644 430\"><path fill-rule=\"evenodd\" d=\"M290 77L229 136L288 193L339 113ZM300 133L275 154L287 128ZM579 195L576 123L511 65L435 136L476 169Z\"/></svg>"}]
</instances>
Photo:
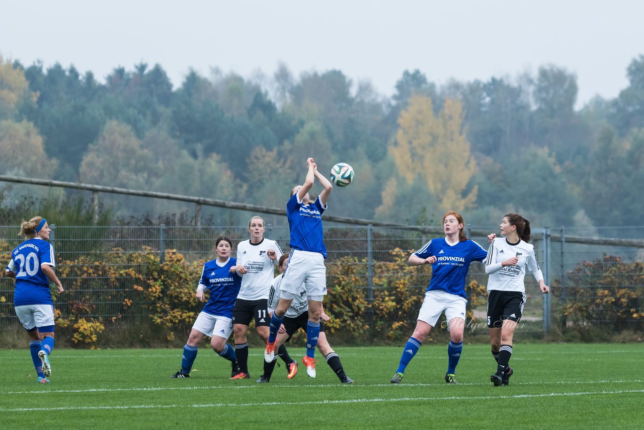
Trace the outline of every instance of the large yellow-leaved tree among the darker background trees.
<instances>
[{"instance_id":1,"label":"large yellow-leaved tree among the darker background trees","mask_svg":"<svg viewBox=\"0 0 644 430\"><path fill-rule=\"evenodd\" d=\"M462 116L459 101L447 99L437 116L430 97L413 95L398 118L398 133L389 146L400 175L409 184L420 177L444 210L471 208L477 199L477 186L466 190L477 164Z\"/></svg>"}]
</instances>

